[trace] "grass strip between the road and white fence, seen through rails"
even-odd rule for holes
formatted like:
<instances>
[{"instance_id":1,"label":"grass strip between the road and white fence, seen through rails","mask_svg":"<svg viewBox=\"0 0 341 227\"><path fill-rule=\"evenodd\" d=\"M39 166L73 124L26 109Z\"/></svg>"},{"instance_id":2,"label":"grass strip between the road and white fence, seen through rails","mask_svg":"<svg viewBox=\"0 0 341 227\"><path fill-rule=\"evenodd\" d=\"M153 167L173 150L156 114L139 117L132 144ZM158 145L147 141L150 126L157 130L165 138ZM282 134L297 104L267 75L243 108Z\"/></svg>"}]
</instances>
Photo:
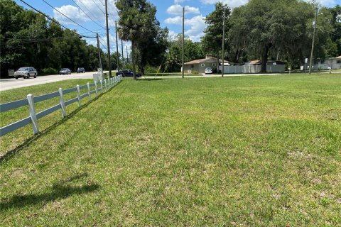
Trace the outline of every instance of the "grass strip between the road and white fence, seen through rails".
<instances>
[{"instance_id":1,"label":"grass strip between the road and white fence, seen through rails","mask_svg":"<svg viewBox=\"0 0 341 227\"><path fill-rule=\"evenodd\" d=\"M70 89L76 87L76 85L85 85L87 82L92 83L92 79L70 79L64 80L60 82L53 82L48 84L40 84L36 86L30 87L22 87L20 89L11 89L4 92L0 92L0 103L4 104L9 101L16 101L19 99L26 99L27 94L33 94L33 96L40 96L43 94L50 94L53 92L58 92L58 89L61 87L62 89ZM94 89L92 87L91 89ZM80 89L81 94L87 93L87 89ZM100 93L100 92L99 92ZM64 95L64 100L67 101L69 99L73 99L77 96L76 92L72 92ZM95 97L95 95L92 95ZM87 104L89 99L82 99L82 104ZM60 98L55 97L53 99L49 99L48 101L41 101L35 104L36 113L48 109L52 106L55 106L60 103ZM67 114L71 114L72 112L78 109L78 104L74 103L67 106ZM17 109L13 109L11 111L6 111L0 114L0 127L7 126L10 123L14 123L23 118L29 116L28 106L22 106ZM55 111L53 114L40 118L38 120L39 130L46 131L48 128L53 126L56 123L60 123L63 119L62 112ZM17 131L13 131L13 133L9 133L4 135L4 137L0 138L0 157L9 150L14 150L18 147L18 145L23 144L26 140L30 140L33 135L33 130L31 124L20 128Z\"/></svg>"}]
</instances>

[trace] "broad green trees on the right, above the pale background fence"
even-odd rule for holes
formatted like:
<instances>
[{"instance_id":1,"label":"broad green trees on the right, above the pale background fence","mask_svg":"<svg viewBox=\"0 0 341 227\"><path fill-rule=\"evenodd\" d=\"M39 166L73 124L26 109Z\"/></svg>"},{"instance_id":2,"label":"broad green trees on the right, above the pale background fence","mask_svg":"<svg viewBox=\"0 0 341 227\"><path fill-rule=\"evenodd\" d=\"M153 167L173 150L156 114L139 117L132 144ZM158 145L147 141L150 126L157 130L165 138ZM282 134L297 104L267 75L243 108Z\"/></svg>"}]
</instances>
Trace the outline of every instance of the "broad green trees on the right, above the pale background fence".
<instances>
[{"instance_id":1,"label":"broad green trees on the right, above the pale background fence","mask_svg":"<svg viewBox=\"0 0 341 227\"><path fill-rule=\"evenodd\" d=\"M240 64L261 60L266 71L267 60L282 60L298 68L310 57L316 4L299 0L250 0L233 11L217 3L206 17L207 28L201 43L205 52ZM225 11L222 56L222 20ZM341 55L341 7L319 8L316 23L315 59Z\"/></svg>"}]
</instances>

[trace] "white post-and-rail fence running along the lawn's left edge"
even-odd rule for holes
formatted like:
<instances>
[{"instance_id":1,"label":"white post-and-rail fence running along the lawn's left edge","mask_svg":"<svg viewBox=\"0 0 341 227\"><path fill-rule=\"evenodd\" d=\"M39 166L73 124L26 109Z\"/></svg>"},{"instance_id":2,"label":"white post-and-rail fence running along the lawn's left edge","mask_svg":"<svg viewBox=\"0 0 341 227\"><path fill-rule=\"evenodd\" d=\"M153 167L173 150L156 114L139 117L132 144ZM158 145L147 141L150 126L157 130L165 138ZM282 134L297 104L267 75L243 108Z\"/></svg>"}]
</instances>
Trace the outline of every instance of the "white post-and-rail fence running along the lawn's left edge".
<instances>
[{"instance_id":1,"label":"white post-and-rail fence running along the lawn's left edge","mask_svg":"<svg viewBox=\"0 0 341 227\"><path fill-rule=\"evenodd\" d=\"M0 113L4 113L6 111L10 111L12 109L17 109L22 106L28 106L28 113L29 116L26 118L23 118L19 121L16 121L14 123L11 123L7 126L4 126L0 128L0 137L3 135L6 135L7 133L11 133L13 131L16 131L19 128L22 128L23 126L27 126L28 124L32 124L33 128L33 134L36 135L39 133L39 127L38 127L38 119L43 118L44 116L47 116L48 114L52 114L55 111L58 111L61 109L63 117L66 117L66 106L69 106L75 102L78 102L79 107L82 106L82 99L85 99L86 97L91 100L92 94L96 94L98 96L99 94L102 94L103 92L108 91L110 88L114 87L116 84L118 84L121 81L122 77L121 75L117 77L112 77L109 79L104 79L99 82L94 83L87 83L85 85L77 85L76 87L70 88L70 89L58 89L58 92L53 92L50 94L43 94L40 96L34 97L32 94L28 94L26 96L26 99L11 101L6 104L0 104ZM85 94L80 94L80 90L85 89ZM64 101L64 95L69 94L72 92L76 92L76 97L69 99L67 101ZM49 99L53 99L55 97L60 97L60 103L51 106L48 109L45 109L43 111L40 111L36 114L36 108L35 104L40 101L46 101Z\"/></svg>"}]
</instances>

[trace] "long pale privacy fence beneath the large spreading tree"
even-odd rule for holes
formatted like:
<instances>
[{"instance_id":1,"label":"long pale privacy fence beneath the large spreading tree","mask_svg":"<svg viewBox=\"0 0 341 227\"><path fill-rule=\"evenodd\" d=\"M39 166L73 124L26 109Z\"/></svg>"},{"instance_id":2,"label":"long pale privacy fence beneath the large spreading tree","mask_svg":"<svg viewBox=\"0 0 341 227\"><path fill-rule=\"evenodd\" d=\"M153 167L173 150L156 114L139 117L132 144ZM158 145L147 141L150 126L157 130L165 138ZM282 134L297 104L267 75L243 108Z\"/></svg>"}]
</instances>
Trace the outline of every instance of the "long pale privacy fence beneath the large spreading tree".
<instances>
[{"instance_id":1,"label":"long pale privacy fence beneath the large spreading tree","mask_svg":"<svg viewBox=\"0 0 341 227\"><path fill-rule=\"evenodd\" d=\"M285 65L267 65L266 72L284 72ZM222 66L219 66L222 70ZM224 73L259 73L261 65L224 65Z\"/></svg>"}]
</instances>

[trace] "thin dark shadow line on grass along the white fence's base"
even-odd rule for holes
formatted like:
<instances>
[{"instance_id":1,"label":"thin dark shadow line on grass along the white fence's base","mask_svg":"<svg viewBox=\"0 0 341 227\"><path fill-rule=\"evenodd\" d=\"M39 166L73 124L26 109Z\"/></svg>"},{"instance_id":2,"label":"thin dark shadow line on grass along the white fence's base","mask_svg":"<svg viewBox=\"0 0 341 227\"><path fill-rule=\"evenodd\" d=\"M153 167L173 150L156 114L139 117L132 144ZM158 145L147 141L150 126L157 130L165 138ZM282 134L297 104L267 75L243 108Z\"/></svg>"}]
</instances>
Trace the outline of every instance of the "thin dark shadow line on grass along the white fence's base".
<instances>
[{"instance_id":1,"label":"thin dark shadow line on grass along the white fence's base","mask_svg":"<svg viewBox=\"0 0 341 227\"><path fill-rule=\"evenodd\" d=\"M113 87L112 87L113 88ZM111 89L110 89L111 90ZM110 91L109 90L109 91ZM108 92L109 92L108 91ZM107 92L103 93L106 94ZM28 145L30 145L31 143L33 143L35 140L37 140L38 138L40 138L40 136L45 135L47 133L49 133L50 131L52 131L54 128L56 128L57 126L60 126L62 123L64 123L65 121L69 120L70 118L72 118L72 116L75 116L75 114L77 114L79 111L81 111L83 108L89 106L89 104L92 103L92 101L96 101L97 99L99 99L100 96L102 96L103 94L99 94L98 96L94 97L93 99L91 99L90 101L88 101L86 104L82 104L82 106L80 106L80 108L75 109L75 111L72 111L69 115L65 116L65 118L61 119L60 121L54 123L53 125L49 126L48 128L46 128L44 131L39 132L37 135L33 135L30 138L26 139L23 141L23 143L21 143L21 145L18 145L16 148L13 148L12 150L9 150L6 154L2 155L0 157L0 165L2 162L11 159L11 157L13 157L14 155L16 155L17 153L19 153L21 150L23 150L23 148L28 147Z\"/></svg>"}]
</instances>

